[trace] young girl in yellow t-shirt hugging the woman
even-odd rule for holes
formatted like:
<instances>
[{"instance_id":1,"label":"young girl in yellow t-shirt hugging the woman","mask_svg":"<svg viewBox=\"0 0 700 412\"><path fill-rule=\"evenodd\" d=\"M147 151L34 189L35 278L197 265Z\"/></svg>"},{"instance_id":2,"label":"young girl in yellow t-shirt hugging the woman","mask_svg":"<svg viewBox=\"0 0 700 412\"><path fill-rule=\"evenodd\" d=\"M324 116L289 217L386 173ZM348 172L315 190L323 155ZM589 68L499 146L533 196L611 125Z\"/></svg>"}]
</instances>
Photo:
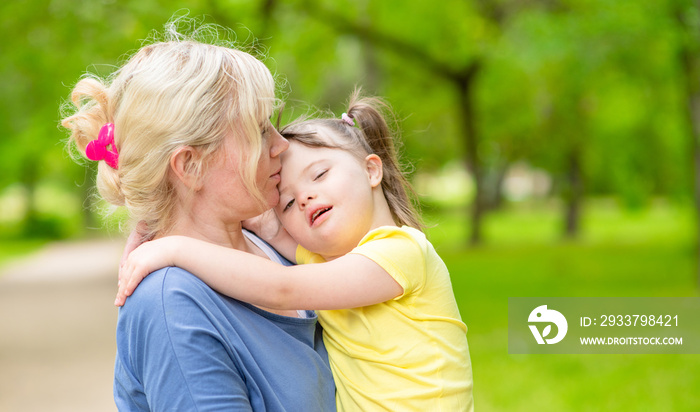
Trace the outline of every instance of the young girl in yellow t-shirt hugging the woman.
<instances>
[{"instance_id":1,"label":"young girl in yellow t-shirt hugging the woman","mask_svg":"<svg viewBox=\"0 0 700 412\"><path fill-rule=\"evenodd\" d=\"M299 243L294 260L316 264L284 267L165 237L130 254L115 303L149 272L179 266L235 299L318 309L339 410L472 410L467 327L447 268L418 229L383 108L356 92L341 119L282 131L290 144L275 213Z\"/></svg>"}]
</instances>

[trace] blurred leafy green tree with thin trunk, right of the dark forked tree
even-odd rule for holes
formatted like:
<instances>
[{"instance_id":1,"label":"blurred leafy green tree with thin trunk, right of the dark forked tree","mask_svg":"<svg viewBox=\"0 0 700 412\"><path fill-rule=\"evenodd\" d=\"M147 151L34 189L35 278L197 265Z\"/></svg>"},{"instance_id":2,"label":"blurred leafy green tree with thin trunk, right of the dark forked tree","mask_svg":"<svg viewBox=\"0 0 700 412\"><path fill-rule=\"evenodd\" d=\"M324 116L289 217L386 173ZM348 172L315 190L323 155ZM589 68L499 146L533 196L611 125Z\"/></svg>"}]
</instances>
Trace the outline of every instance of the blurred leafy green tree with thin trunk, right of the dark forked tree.
<instances>
[{"instance_id":1,"label":"blurred leafy green tree with thin trunk, right of the dark forked tree","mask_svg":"<svg viewBox=\"0 0 700 412\"><path fill-rule=\"evenodd\" d=\"M520 86L530 96L522 109L535 113L529 130L539 136L525 136L523 158L554 177L564 234L574 237L586 194L614 193L639 207L685 190L668 64L675 40L663 4L550 4L558 6L528 10L509 25L499 63L519 67L531 83Z\"/></svg>"}]
</instances>

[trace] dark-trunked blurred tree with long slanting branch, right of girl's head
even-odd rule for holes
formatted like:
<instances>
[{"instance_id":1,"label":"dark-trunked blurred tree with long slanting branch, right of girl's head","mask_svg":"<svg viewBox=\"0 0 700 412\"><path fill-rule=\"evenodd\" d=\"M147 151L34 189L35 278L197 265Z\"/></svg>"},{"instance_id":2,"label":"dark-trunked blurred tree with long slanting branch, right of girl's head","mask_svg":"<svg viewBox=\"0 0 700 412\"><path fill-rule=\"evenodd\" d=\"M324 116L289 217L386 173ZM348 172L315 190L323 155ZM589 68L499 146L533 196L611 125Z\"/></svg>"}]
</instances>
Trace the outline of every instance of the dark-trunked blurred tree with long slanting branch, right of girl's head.
<instances>
[{"instance_id":1,"label":"dark-trunked blurred tree with long slanting branch, right of girl's head","mask_svg":"<svg viewBox=\"0 0 700 412\"><path fill-rule=\"evenodd\" d=\"M449 2L440 10L425 3L414 3L410 6L404 4L398 8L394 5L373 3L371 7L367 4L362 9L352 12L349 12L349 5L338 3L331 8L323 2L304 1L301 6L305 12L335 31L361 39L365 47L370 47L369 50L380 47L387 49L400 58L421 66L430 76L440 78L452 88L456 97L454 112L457 115L457 123L461 125L466 164L476 187L472 202L470 240L472 243L480 242L485 201L473 94L475 79L483 60L477 49L479 42L484 39L477 34L474 43L466 44L460 41L465 34L475 37L461 21L465 17L469 18L470 13L473 18L473 11L462 2ZM358 11L364 12L361 17L349 17L357 15ZM372 22L362 18L369 15L373 16ZM426 18L431 15L435 19ZM454 25L445 24L449 19L458 20ZM426 33L432 36L426 36ZM431 41L434 36L441 41ZM367 56L372 56L371 52L368 52ZM376 67L375 62L371 62L373 64L367 67ZM370 78L376 79L376 76Z\"/></svg>"}]
</instances>

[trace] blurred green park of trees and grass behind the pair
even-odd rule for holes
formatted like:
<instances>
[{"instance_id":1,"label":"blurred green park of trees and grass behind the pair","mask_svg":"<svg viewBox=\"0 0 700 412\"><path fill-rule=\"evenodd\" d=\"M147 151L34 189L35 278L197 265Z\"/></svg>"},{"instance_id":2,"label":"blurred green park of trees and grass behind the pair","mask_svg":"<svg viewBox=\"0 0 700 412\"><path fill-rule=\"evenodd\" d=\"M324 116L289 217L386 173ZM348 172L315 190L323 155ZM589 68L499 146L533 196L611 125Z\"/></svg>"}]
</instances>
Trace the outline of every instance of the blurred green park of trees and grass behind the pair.
<instances>
[{"instance_id":1,"label":"blurred green park of trees and grass behind the pair","mask_svg":"<svg viewBox=\"0 0 700 412\"><path fill-rule=\"evenodd\" d=\"M283 122L304 104L339 115L356 85L392 104L469 327L478 411L700 409L698 355L507 349L508 297L698 295L693 1L4 1L0 272L54 242L121 239L60 106L187 12L266 51Z\"/></svg>"}]
</instances>

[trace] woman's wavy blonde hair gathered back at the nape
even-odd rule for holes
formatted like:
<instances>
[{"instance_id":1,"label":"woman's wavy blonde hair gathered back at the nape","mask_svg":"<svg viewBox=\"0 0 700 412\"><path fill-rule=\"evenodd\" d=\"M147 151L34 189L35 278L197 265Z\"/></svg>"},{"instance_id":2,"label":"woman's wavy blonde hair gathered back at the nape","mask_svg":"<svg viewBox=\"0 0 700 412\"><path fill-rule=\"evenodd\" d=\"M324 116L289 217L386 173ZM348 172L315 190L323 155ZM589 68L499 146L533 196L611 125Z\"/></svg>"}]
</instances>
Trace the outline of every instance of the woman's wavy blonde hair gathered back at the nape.
<instances>
[{"instance_id":1,"label":"woman's wavy blonde hair gathered back at the nape","mask_svg":"<svg viewBox=\"0 0 700 412\"><path fill-rule=\"evenodd\" d=\"M74 114L62 125L68 146L82 155L105 123L114 123L119 167L99 162L97 189L115 206L126 206L146 235L172 225L177 198L168 179L170 157L183 146L199 153L194 171L201 178L225 136L238 142L240 174L251 196L264 204L255 184L262 151L261 122L272 113L275 81L252 55L227 45L207 44L166 26L169 39L138 50L109 79L89 75L73 89ZM203 25L211 37L218 28Z\"/></svg>"}]
</instances>

